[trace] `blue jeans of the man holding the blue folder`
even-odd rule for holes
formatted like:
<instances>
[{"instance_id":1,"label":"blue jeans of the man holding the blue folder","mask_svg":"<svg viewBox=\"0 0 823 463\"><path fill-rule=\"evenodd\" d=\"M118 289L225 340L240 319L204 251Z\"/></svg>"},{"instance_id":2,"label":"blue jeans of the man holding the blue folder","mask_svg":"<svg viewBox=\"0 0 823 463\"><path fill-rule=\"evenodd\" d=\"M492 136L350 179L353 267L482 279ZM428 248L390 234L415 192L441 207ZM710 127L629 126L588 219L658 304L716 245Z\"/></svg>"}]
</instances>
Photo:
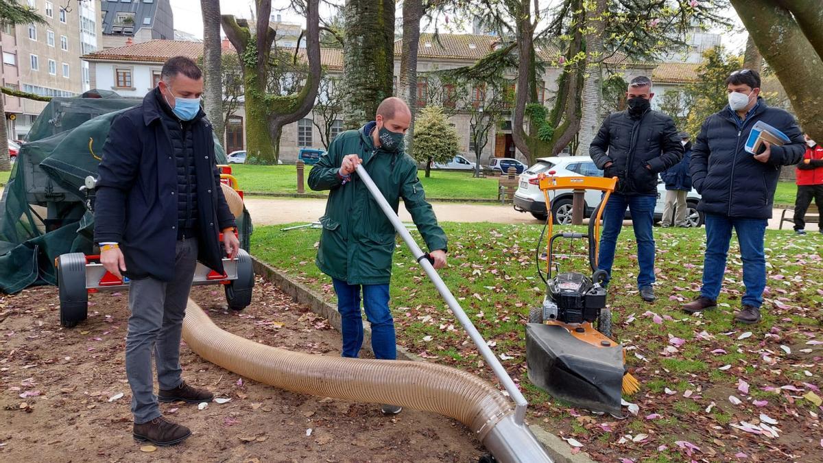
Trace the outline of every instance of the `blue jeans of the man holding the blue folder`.
<instances>
[{"instance_id":1,"label":"blue jeans of the man holding the blue folder","mask_svg":"<svg viewBox=\"0 0 823 463\"><path fill-rule=\"evenodd\" d=\"M716 300L720 295L723 275L726 273L726 255L732 239L732 227L740 243L743 261L743 305L760 307L763 305L763 290L766 287L766 259L763 251L763 237L766 232L765 219L735 218L718 214L705 214L706 255L703 262L703 288L700 295Z\"/></svg>"}]
</instances>

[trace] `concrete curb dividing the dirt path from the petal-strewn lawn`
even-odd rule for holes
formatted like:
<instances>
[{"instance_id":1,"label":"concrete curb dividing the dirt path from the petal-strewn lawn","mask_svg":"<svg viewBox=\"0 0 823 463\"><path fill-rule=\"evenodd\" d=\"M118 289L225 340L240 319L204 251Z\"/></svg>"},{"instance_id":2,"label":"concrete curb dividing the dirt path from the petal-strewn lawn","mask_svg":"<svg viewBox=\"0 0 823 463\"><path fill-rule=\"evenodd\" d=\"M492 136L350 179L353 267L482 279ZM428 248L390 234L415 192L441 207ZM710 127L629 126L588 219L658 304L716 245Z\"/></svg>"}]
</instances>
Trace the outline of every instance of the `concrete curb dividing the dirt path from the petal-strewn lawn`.
<instances>
[{"instance_id":1,"label":"concrete curb dividing the dirt path from the petal-strewn lawn","mask_svg":"<svg viewBox=\"0 0 823 463\"><path fill-rule=\"evenodd\" d=\"M255 274L262 275L268 282L276 284L283 292L293 297L295 302L309 306L311 311L319 316L323 316L335 330L340 331L341 320L340 314L337 312L337 307L325 302L323 295L309 288L305 288L295 281L295 279L272 268L272 266L258 260L254 256L252 256L252 264ZM371 329L365 322L363 323L363 331L363 345L371 350ZM407 351L399 345L397 347L398 359L425 362L424 358ZM546 452L551 456L554 463L594 463L594 461L583 452L576 455L572 454L569 444L540 426L532 424L528 428L531 429L534 436L537 437L537 441L546 448Z\"/></svg>"}]
</instances>

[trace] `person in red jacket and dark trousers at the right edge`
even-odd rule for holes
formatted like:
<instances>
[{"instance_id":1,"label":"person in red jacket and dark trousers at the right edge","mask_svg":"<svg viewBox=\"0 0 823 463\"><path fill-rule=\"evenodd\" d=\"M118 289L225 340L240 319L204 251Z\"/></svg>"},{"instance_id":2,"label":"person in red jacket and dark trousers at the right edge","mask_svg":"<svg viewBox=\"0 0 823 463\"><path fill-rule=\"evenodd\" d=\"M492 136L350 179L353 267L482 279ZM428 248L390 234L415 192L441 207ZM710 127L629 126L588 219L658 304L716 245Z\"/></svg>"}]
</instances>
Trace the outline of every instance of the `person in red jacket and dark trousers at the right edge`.
<instances>
[{"instance_id":1,"label":"person in red jacket and dark trousers at the right edge","mask_svg":"<svg viewBox=\"0 0 823 463\"><path fill-rule=\"evenodd\" d=\"M806 138L806 153L802 161L797 164L797 199L794 202L794 232L805 235L806 211L815 199L817 209L823 209L823 147L815 143L808 133ZM823 233L823 215L817 220L817 230Z\"/></svg>"}]
</instances>

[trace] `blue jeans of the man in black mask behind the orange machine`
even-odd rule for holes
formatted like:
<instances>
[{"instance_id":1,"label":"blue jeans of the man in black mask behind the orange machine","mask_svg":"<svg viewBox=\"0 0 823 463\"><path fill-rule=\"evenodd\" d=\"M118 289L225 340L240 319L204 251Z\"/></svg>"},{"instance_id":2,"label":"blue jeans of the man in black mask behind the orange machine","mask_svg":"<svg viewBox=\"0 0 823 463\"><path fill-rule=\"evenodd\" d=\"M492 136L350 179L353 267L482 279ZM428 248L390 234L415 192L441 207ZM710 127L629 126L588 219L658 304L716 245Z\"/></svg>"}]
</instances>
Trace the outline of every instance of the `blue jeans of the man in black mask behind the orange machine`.
<instances>
[{"instance_id":1,"label":"blue jeans of the man in black mask behind the orange machine","mask_svg":"<svg viewBox=\"0 0 823 463\"><path fill-rule=\"evenodd\" d=\"M653 195L611 194L606 208L603 209L603 230L600 236L600 253L597 256L597 269L605 270L611 279L611 264L615 261L617 236L623 228L625 208L630 208L631 224L637 240L637 287L643 288L654 283L654 204Z\"/></svg>"}]
</instances>

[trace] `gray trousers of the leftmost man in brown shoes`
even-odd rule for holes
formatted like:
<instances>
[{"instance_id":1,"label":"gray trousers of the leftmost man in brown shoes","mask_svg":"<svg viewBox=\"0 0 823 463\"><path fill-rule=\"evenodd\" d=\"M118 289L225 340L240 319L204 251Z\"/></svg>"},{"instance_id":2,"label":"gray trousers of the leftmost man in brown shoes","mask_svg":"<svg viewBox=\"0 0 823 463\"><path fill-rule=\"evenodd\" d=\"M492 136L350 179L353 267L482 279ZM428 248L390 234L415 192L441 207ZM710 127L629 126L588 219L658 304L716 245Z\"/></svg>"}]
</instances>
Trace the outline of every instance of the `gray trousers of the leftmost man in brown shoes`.
<instances>
[{"instance_id":1,"label":"gray trousers of the leftmost man in brown shoes","mask_svg":"<svg viewBox=\"0 0 823 463\"><path fill-rule=\"evenodd\" d=\"M180 386L180 334L186 315L188 292L197 266L198 242L187 238L175 246L174 280L155 278L132 280L128 289L128 335L126 376L132 387L134 423L146 423L160 416L151 374L151 351L157 364L160 389Z\"/></svg>"}]
</instances>

